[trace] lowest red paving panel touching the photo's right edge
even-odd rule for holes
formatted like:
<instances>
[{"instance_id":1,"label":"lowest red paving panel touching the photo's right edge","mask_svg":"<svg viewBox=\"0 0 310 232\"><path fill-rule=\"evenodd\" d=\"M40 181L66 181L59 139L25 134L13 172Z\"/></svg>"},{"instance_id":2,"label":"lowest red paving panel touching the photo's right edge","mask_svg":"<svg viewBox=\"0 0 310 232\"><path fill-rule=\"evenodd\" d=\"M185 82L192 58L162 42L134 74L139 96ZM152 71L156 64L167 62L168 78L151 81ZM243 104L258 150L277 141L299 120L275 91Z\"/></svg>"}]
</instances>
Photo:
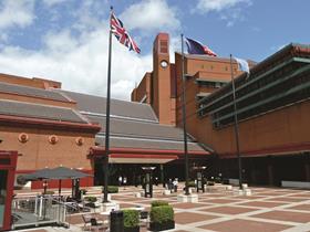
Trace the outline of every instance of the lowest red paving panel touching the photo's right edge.
<instances>
[{"instance_id":1,"label":"lowest red paving panel touching the photo's right edge","mask_svg":"<svg viewBox=\"0 0 310 232\"><path fill-rule=\"evenodd\" d=\"M266 213L259 213L259 214L255 214L251 217L261 218L261 219L280 220L280 221L301 222L301 223L310 222L310 213L280 211L280 210L266 212Z\"/></svg>"}]
</instances>

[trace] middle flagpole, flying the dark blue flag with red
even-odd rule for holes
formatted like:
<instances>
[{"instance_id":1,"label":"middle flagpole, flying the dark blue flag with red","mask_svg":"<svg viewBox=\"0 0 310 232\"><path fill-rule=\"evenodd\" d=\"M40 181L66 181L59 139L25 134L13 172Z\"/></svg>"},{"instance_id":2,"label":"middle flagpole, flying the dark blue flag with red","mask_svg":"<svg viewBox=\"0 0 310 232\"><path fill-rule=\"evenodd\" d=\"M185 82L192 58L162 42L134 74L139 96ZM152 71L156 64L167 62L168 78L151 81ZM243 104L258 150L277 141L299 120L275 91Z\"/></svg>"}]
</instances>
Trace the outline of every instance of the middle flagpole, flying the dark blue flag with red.
<instances>
[{"instance_id":1,"label":"middle flagpole, flying the dark blue flag with red","mask_svg":"<svg viewBox=\"0 0 310 232\"><path fill-rule=\"evenodd\" d=\"M182 120L183 120L183 134L184 134L184 156L185 156L185 194L189 194L188 188L188 151L187 151L187 133L186 133L186 86L184 75L184 36L180 34L182 40Z\"/></svg>"}]
</instances>

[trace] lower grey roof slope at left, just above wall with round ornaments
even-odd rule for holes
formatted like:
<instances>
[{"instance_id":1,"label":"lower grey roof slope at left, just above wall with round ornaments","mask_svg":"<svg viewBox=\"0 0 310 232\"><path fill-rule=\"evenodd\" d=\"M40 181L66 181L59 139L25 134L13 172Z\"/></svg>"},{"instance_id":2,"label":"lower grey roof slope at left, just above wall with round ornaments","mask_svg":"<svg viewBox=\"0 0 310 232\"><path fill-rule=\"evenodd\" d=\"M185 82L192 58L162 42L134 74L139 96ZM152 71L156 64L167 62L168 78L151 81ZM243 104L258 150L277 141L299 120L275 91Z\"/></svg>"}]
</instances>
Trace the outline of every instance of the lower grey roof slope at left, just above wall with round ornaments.
<instances>
[{"instance_id":1,"label":"lower grey roof slope at left, just above wall with round ornaments","mask_svg":"<svg viewBox=\"0 0 310 232\"><path fill-rule=\"evenodd\" d=\"M21 103L8 99L0 99L0 115L89 124L79 112L72 108Z\"/></svg>"}]
</instances>

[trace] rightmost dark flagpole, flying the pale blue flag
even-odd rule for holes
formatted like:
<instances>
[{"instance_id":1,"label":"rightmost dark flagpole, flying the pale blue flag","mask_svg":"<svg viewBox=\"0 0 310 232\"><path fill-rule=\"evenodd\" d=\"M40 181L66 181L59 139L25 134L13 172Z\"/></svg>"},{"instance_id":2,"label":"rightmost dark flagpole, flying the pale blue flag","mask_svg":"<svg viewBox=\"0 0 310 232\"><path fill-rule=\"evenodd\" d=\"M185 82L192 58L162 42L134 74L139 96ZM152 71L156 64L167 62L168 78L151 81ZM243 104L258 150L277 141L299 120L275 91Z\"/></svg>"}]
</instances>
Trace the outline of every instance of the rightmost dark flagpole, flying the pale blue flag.
<instances>
[{"instance_id":1,"label":"rightmost dark flagpole, flying the pale blue flag","mask_svg":"<svg viewBox=\"0 0 310 232\"><path fill-rule=\"evenodd\" d=\"M237 115L236 88L235 88L235 78L234 78L234 71L232 71L232 55L231 54L230 54L230 72L231 72L231 86L232 86L232 101L234 101L235 137L236 137L238 169L239 169L239 188L242 189L242 164L241 164L241 157L240 157L239 125L238 125L238 115Z\"/></svg>"}]
</instances>

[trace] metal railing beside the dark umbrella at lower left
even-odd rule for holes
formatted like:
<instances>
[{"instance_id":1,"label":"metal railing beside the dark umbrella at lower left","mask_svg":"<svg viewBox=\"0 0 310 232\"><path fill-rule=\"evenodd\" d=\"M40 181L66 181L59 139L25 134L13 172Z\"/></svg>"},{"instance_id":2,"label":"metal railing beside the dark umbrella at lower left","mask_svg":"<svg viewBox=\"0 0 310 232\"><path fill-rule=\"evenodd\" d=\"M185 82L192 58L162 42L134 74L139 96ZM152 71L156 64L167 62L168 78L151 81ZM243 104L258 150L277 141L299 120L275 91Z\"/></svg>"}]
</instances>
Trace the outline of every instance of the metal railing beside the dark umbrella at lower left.
<instances>
[{"instance_id":1,"label":"metal railing beside the dark umbrella at lower left","mask_svg":"<svg viewBox=\"0 0 310 232\"><path fill-rule=\"evenodd\" d=\"M79 211L78 203L53 196L17 198L12 201L12 229L58 224L69 226L66 217Z\"/></svg>"}]
</instances>

